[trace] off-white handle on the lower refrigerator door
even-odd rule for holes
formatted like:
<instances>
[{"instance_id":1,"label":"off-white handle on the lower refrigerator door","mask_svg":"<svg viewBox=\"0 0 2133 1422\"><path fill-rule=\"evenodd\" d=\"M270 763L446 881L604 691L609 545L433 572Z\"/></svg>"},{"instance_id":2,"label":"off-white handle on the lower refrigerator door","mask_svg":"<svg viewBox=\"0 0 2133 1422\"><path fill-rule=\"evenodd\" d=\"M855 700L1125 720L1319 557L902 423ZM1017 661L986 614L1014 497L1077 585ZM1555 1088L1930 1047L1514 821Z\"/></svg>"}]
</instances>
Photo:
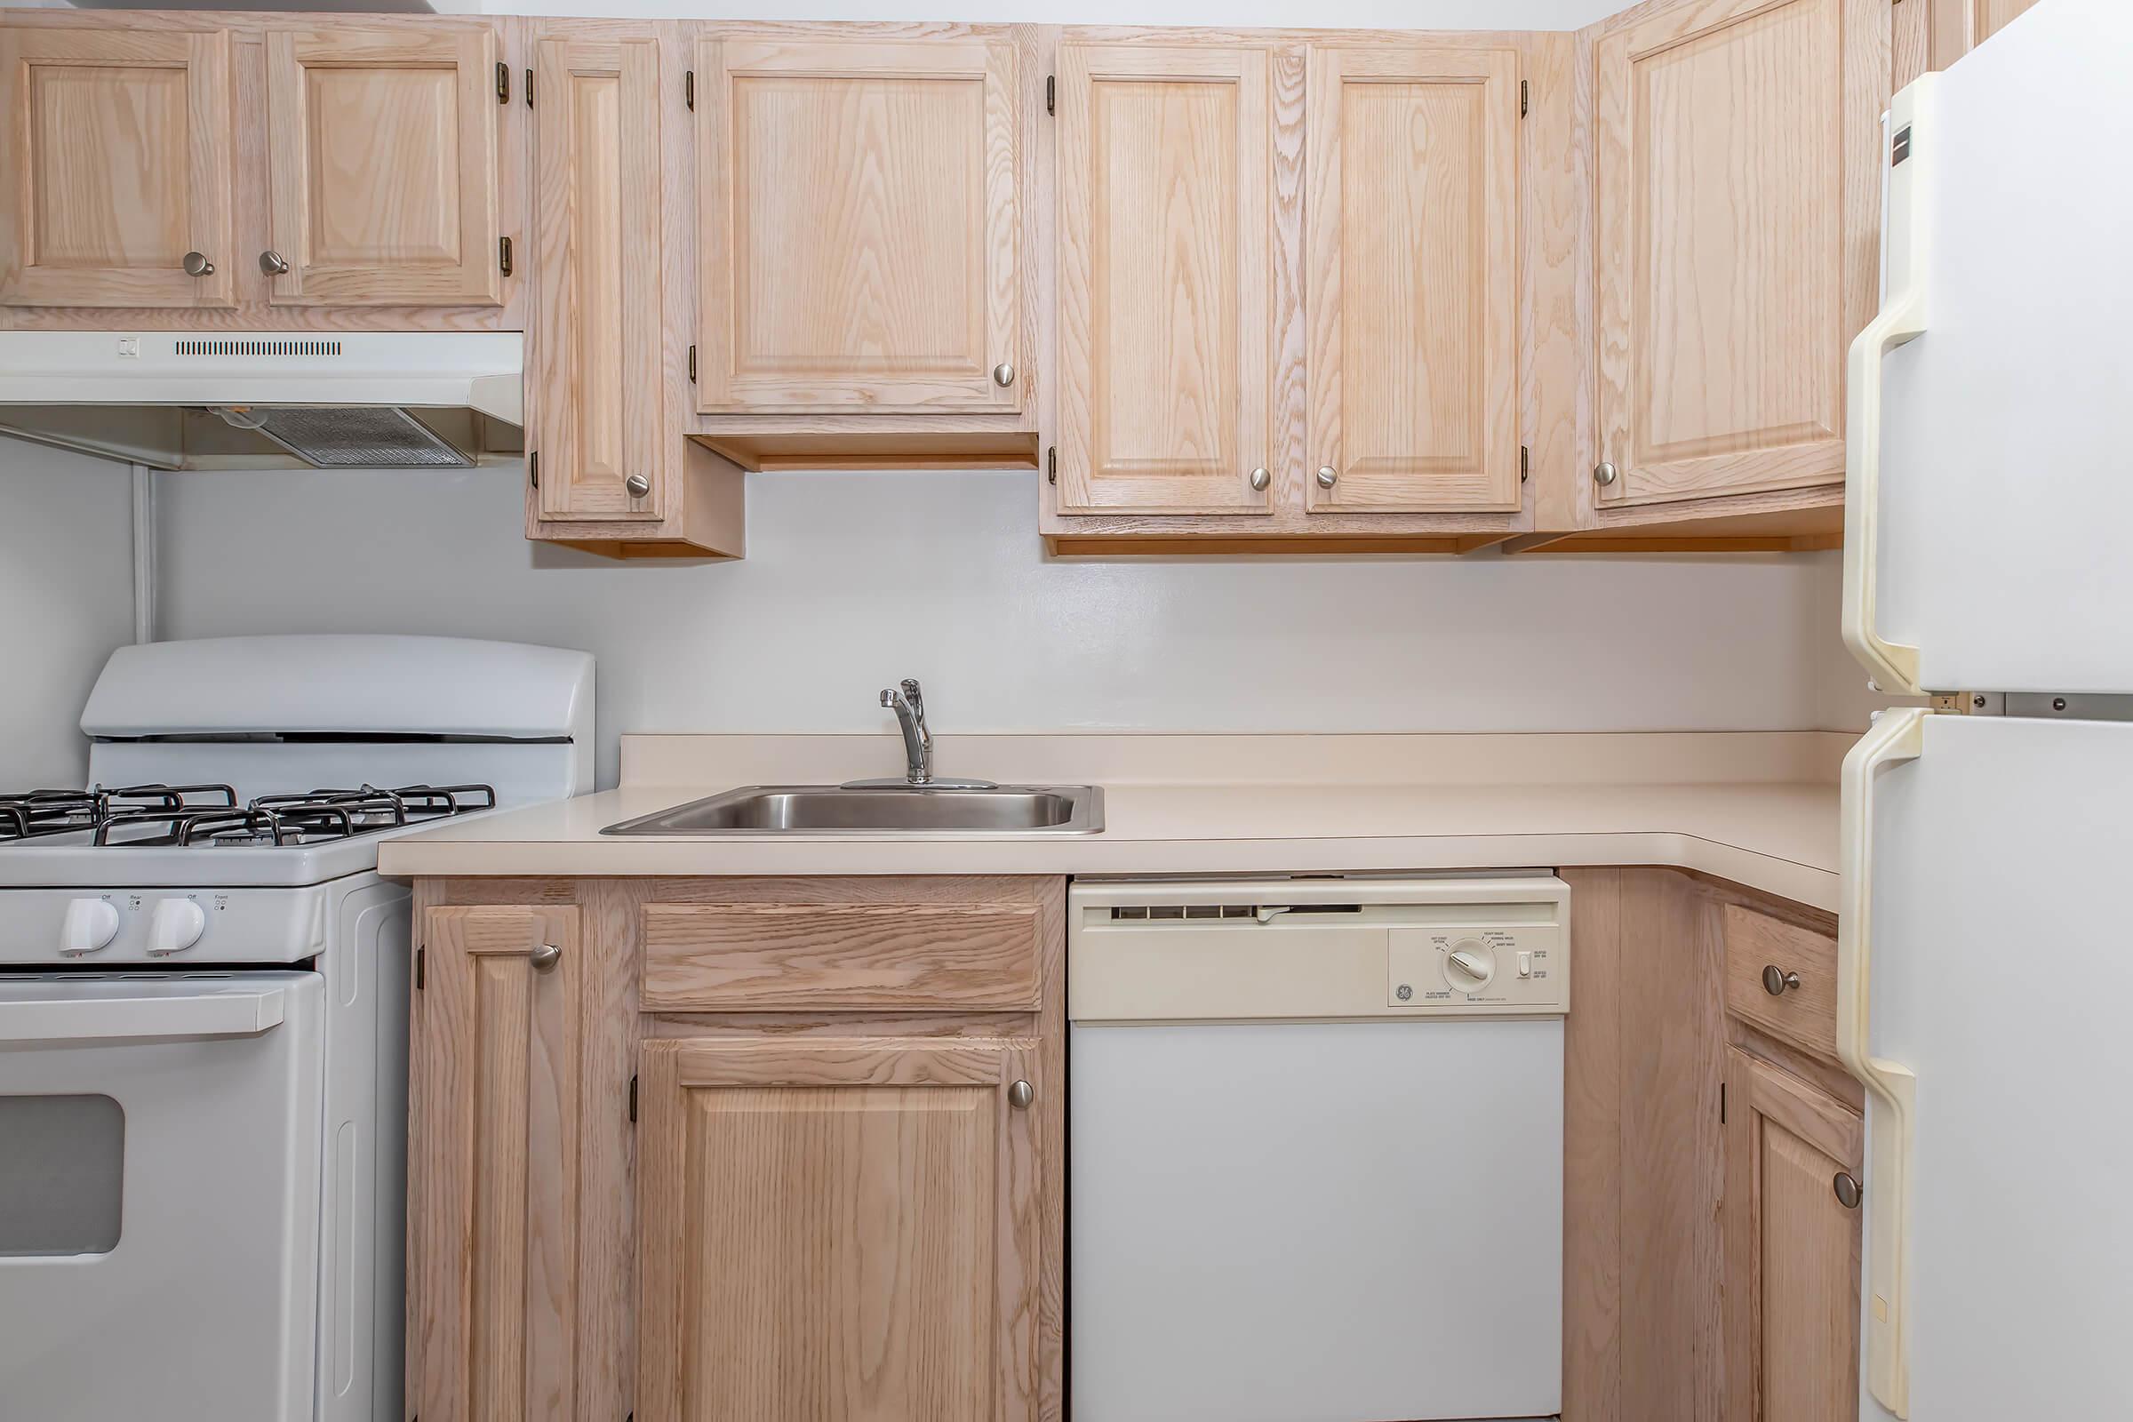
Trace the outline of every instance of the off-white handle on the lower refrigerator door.
<instances>
[{"instance_id":1,"label":"off-white handle on the lower refrigerator door","mask_svg":"<svg viewBox=\"0 0 2133 1422\"><path fill-rule=\"evenodd\" d=\"M1873 974L1873 789L1886 765L1915 761L1924 750L1928 712L1918 706L1881 712L1845 755L1843 767L1843 898L1837 912L1837 1055L1875 1098L1866 1179L1866 1386L1898 1418L1909 1418L1909 1286L1911 1286L1911 1149L1918 1077L1901 1062L1869 1055L1869 985Z\"/></svg>"}]
</instances>

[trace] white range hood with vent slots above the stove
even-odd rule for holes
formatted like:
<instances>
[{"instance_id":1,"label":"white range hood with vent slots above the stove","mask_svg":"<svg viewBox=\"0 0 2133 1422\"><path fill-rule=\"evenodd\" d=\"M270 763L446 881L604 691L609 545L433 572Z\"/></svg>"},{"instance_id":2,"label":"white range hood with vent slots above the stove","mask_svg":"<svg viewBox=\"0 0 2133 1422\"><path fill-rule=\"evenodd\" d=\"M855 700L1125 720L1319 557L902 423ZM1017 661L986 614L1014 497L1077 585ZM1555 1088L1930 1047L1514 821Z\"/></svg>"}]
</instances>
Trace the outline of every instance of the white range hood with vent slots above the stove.
<instances>
[{"instance_id":1,"label":"white range hood with vent slots above the stove","mask_svg":"<svg viewBox=\"0 0 2133 1422\"><path fill-rule=\"evenodd\" d=\"M474 465L525 424L523 369L516 330L6 330L0 433L158 469Z\"/></svg>"}]
</instances>

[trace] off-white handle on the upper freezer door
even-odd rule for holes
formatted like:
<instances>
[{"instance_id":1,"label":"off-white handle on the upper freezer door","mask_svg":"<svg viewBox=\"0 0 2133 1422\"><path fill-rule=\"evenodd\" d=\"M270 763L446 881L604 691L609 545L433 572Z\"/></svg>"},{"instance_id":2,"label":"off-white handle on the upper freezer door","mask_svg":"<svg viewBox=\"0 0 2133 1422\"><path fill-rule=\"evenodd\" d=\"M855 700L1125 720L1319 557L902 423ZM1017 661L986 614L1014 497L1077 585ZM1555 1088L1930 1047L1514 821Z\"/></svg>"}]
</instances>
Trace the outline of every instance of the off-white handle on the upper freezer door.
<instances>
[{"instance_id":1,"label":"off-white handle on the upper freezer door","mask_svg":"<svg viewBox=\"0 0 2133 1422\"><path fill-rule=\"evenodd\" d=\"M1890 102L1881 168L1886 228L1881 311L1845 358L1845 646L1881 691L1920 695L1918 648L1877 631L1875 584L1881 539L1881 362L1926 328L1928 175L1932 92L1922 75Z\"/></svg>"}]
</instances>

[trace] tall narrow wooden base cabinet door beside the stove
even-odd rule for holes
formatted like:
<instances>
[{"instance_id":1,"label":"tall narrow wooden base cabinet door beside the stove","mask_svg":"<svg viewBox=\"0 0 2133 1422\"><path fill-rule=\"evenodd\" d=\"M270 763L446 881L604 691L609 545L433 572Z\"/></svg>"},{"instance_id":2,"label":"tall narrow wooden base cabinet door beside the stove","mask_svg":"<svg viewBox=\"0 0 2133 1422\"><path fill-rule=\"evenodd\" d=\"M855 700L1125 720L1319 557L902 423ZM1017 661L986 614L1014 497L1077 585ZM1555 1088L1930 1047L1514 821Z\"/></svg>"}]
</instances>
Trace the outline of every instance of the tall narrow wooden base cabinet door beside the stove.
<instances>
[{"instance_id":1,"label":"tall narrow wooden base cabinet door beside the stove","mask_svg":"<svg viewBox=\"0 0 2133 1422\"><path fill-rule=\"evenodd\" d=\"M407 1106L407 1411L570 1422L574 906L429 908Z\"/></svg>"}]
</instances>

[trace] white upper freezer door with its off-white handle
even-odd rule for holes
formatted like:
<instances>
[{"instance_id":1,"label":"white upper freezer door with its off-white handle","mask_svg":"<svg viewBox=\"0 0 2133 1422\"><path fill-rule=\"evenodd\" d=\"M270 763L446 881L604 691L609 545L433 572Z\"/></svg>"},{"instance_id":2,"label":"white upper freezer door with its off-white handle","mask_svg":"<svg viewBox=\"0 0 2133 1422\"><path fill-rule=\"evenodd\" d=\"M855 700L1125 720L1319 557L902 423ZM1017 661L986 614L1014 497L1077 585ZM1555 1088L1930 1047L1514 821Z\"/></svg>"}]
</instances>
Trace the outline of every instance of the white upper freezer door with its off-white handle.
<instances>
[{"instance_id":1,"label":"white upper freezer door with its off-white handle","mask_svg":"<svg viewBox=\"0 0 2133 1422\"><path fill-rule=\"evenodd\" d=\"M2043 0L1896 96L1845 527L1886 691L2133 693L2129 68L2133 4Z\"/></svg>"}]
</instances>

